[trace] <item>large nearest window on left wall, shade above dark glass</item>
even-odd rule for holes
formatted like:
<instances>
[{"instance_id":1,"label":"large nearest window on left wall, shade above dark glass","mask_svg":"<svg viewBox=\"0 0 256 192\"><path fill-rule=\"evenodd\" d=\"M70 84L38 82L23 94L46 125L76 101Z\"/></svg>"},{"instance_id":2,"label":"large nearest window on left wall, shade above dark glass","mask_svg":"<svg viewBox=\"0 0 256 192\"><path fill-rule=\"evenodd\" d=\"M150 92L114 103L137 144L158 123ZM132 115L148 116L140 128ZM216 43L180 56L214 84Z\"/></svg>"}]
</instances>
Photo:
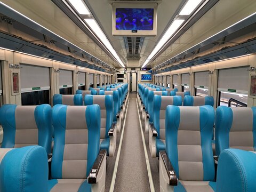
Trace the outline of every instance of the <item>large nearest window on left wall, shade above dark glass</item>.
<instances>
[{"instance_id":1,"label":"large nearest window on left wall, shade above dark glass","mask_svg":"<svg viewBox=\"0 0 256 192\"><path fill-rule=\"evenodd\" d=\"M50 104L50 69L20 64L22 105Z\"/></svg>"}]
</instances>

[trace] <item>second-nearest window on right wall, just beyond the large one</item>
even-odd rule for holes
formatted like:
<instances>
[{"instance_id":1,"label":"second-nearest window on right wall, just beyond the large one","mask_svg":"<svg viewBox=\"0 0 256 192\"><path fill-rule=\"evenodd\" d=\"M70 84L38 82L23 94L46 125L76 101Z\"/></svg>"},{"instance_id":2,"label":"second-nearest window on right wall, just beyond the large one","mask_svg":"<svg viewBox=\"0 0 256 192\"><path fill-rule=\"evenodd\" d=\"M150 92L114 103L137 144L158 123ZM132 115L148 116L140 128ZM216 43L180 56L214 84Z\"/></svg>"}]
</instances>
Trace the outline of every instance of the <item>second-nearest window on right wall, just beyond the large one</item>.
<instances>
[{"instance_id":1,"label":"second-nearest window on right wall, just beyond the large one","mask_svg":"<svg viewBox=\"0 0 256 192\"><path fill-rule=\"evenodd\" d=\"M195 95L205 97L208 95L209 74L208 71L195 73Z\"/></svg>"}]
</instances>

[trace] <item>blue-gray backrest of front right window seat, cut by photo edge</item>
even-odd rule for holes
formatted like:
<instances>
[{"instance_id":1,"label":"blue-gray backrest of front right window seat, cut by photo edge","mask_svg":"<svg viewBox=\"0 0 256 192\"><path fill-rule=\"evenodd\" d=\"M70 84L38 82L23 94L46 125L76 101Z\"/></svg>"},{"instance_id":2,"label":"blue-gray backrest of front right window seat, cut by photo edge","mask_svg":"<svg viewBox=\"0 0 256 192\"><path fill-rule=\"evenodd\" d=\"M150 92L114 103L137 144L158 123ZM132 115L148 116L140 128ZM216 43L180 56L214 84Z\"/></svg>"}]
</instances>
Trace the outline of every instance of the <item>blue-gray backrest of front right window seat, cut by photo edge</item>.
<instances>
[{"instance_id":1,"label":"blue-gray backrest of front right window seat, cut by photo edge","mask_svg":"<svg viewBox=\"0 0 256 192\"><path fill-rule=\"evenodd\" d=\"M256 151L256 107L219 106L215 119L216 154L223 149Z\"/></svg>"}]
</instances>

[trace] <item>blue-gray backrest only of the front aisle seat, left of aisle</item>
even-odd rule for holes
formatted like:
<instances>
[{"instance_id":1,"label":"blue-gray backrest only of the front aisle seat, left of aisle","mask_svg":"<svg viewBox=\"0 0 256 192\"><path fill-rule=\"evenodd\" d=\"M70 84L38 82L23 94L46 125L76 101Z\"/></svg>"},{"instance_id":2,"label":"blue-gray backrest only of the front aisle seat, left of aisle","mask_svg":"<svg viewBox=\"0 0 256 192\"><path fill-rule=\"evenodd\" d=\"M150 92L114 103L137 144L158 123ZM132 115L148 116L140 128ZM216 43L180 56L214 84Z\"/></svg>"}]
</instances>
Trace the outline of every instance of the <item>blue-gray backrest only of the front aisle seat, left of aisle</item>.
<instances>
[{"instance_id":1,"label":"blue-gray backrest only of the front aisle seat, left of aisle","mask_svg":"<svg viewBox=\"0 0 256 192\"><path fill-rule=\"evenodd\" d=\"M99 154L100 107L55 105L52 120L52 178L86 179Z\"/></svg>"}]
</instances>

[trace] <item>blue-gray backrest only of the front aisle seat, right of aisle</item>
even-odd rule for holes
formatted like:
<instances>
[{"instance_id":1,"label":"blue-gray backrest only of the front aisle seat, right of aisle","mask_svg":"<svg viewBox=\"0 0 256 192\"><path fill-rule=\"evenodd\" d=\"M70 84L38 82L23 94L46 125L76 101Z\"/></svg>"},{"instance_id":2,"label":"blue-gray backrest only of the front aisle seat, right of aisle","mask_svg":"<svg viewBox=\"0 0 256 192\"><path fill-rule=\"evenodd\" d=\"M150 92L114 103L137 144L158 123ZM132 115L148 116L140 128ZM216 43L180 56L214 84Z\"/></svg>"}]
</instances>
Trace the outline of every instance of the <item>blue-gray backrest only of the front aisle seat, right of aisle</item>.
<instances>
[{"instance_id":1,"label":"blue-gray backrest only of the front aisle seat, right of aisle","mask_svg":"<svg viewBox=\"0 0 256 192\"><path fill-rule=\"evenodd\" d=\"M180 180L214 181L212 106L167 106L166 153Z\"/></svg>"}]
</instances>

